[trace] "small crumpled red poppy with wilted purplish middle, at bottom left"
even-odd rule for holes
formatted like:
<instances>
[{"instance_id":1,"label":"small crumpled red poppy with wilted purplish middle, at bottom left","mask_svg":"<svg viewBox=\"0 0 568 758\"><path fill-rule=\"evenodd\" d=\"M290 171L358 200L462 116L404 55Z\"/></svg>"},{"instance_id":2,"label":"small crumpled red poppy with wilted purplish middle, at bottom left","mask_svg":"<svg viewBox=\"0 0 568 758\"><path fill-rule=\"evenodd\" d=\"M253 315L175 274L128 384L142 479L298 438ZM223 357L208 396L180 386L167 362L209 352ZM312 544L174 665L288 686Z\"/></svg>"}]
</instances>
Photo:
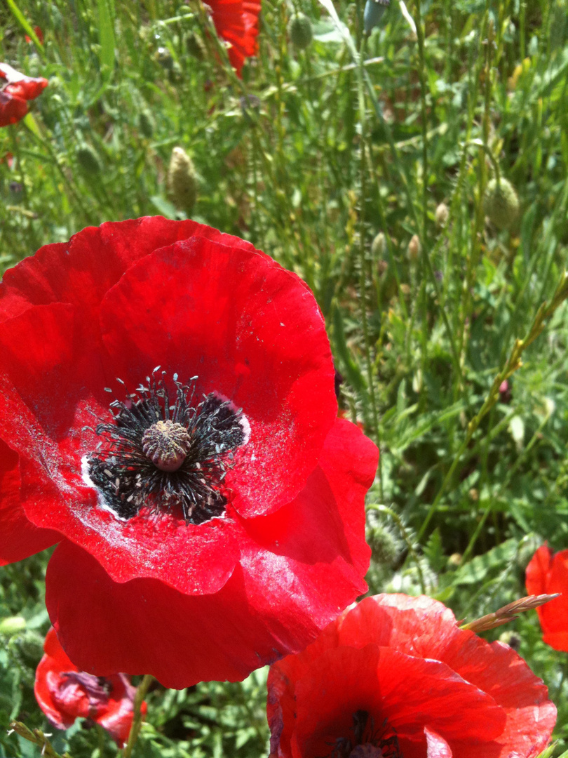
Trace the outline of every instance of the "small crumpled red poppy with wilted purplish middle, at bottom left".
<instances>
[{"instance_id":1,"label":"small crumpled red poppy with wilted purplish middle, at bottom left","mask_svg":"<svg viewBox=\"0 0 568 758\"><path fill-rule=\"evenodd\" d=\"M124 674L96 677L79 671L64 653L54 628L48 631L43 649L34 691L49 721L58 729L67 729L79 717L92 719L123 747L133 722L136 693L129 678ZM146 710L142 703L142 713Z\"/></svg>"}]
</instances>

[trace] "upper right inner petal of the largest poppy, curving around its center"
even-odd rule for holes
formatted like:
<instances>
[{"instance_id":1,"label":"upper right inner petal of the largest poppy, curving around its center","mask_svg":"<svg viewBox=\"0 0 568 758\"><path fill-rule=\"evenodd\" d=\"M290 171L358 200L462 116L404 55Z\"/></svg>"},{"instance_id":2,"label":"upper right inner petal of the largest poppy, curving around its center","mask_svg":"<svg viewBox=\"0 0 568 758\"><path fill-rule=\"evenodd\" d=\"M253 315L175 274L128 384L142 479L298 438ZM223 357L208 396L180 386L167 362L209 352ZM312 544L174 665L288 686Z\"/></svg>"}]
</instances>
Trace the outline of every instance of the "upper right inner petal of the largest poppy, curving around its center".
<instances>
[{"instance_id":1,"label":"upper right inner petal of the largest poppy, curving around its center","mask_svg":"<svg viewBox=\"0 0 568 758\"><path fill-rule=\"evenodd\" d=\"M101 324L127 387L159 365L242 408L251 437L226 478L241 515L298 494L337 405L323 318L295 274L254 250L194 238L126 271L103 300Z\"/></svg>"}]
</instances>

